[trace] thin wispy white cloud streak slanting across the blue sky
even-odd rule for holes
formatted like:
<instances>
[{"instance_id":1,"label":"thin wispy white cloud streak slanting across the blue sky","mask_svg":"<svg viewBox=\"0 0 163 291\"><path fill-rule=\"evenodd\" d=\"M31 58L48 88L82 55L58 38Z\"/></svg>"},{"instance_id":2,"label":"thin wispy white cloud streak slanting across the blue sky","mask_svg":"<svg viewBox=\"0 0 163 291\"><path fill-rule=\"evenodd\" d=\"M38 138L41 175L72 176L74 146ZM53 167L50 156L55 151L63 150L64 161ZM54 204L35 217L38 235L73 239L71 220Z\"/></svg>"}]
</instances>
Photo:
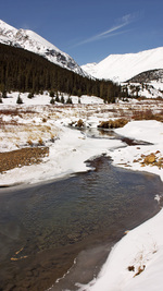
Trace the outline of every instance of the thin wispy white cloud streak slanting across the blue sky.
<instances>
[{"instance_id":1,"label":"thin wispy white cloud streak slanting across the blue sky","mask_svg":"<svg viewBox=\"0 0 163 291\"><path fill-rule=\"evenodd\" d=\"M100 34L97 34L95 36L86 38L86 39L82 40L80 43L75 44L73 47L78 47L78 46L82 46L82 45L85 45L88 43L101 40L103 38L112 37L112 36L115 36L117 34L124 34L127 31L124 32L124 31L122 31L122 28L129 25L135 20L135 17L136 16L134 14L124 15L121 20L117 20L116 24L114 24L108 31L104 31Z\"/></svg>"}]
</instances>

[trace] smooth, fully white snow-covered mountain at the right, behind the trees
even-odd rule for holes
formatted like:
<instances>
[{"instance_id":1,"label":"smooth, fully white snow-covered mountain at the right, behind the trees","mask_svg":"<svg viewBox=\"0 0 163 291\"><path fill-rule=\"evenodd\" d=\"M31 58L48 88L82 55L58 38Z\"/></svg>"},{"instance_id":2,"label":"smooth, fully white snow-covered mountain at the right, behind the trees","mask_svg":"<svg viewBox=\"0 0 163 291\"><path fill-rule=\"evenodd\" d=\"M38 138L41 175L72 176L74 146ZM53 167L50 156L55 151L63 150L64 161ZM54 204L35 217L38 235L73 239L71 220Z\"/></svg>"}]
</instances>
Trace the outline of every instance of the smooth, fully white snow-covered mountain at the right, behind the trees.
<instances>
[{"instance_id":1,"label":"smooth, fully white snow-covered mountain at the right, behind the trees","mask_svg":"<svg viewBox=\"0 0 163 291\"><path fill-rule=\"evenodd\" d=\"M97 78L125 82L145 71L163 69L163 47L137 53L110 54L99 63L88 63L82 69Z\"/></svg>"}]
</instances>

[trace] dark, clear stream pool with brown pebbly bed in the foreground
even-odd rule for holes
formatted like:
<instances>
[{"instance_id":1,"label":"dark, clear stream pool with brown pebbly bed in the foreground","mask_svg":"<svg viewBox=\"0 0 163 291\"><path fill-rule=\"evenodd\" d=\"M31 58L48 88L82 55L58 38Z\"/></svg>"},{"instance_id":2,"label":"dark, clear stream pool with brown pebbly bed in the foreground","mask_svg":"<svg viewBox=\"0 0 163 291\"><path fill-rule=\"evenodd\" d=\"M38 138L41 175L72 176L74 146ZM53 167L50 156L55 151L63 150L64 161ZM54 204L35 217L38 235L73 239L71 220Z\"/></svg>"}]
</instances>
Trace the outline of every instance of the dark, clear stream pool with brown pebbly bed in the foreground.
<instances>
[{"instance_id":1,"label":"dark, clear stream pool with brown pebbly bed in the foreground","mask_svg":"<svg viewBox=\"0 0 163 291\"><path fill-rule=\"evenodd\" d=\"M91 166L65 180L0 189L0 290L77 290L125 230L159 211L159 177L113 167L104 156Z\"/></svg>"}]
</instances>

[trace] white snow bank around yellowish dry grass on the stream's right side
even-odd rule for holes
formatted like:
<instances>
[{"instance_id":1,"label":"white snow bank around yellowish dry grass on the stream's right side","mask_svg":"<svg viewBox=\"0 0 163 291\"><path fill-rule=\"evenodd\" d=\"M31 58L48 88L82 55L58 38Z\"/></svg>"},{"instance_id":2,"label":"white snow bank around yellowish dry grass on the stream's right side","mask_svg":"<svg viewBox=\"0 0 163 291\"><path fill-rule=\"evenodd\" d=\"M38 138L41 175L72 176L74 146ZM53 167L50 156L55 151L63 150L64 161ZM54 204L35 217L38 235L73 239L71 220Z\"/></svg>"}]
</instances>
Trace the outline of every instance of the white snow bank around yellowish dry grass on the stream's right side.
<instances>
[{"instance_id":1,"label":"white snow bank around yellowish dry grass on the stream's right side","mask_svg":"<svg viewBox=\"0 0 163 291\"><path fill-rule=\"evenodd\" d=\"M146 166L135 162L141 155L149 155L151 153L160 151L160 157L163 157L163 123L155 120L149 121L133 121L128 122L123 129L115 130L116 133L126 137L146 141L151 145L130 146L126 148L115 149L111 153L113 163L123 166L126 163L133 170L148 171L159 174L163 180L163 169L158 167Z\"/></svg>"}]
</instances>

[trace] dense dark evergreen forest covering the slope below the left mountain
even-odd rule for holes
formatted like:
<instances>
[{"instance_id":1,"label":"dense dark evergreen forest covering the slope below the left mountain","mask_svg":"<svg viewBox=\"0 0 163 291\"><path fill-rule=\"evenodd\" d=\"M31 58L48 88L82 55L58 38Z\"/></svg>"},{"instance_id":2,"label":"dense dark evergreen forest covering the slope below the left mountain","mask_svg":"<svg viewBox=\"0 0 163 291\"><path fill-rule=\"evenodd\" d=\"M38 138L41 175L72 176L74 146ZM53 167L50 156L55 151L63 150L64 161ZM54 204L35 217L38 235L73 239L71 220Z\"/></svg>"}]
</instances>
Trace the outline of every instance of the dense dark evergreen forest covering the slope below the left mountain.
<instances>
[{"instance_id":1,"label":"dense dark evergreen forest covering the slope below the left mountain","mask_svg":"<svg viewBox=\"0 0 163 291\"><path fill-rule=\"evenodd\" d=\"M87 94L114 101L121 87L111 81L83 77L27 50L0 44L0 92L41 90Z\"/></svg>"}]
</instances>

